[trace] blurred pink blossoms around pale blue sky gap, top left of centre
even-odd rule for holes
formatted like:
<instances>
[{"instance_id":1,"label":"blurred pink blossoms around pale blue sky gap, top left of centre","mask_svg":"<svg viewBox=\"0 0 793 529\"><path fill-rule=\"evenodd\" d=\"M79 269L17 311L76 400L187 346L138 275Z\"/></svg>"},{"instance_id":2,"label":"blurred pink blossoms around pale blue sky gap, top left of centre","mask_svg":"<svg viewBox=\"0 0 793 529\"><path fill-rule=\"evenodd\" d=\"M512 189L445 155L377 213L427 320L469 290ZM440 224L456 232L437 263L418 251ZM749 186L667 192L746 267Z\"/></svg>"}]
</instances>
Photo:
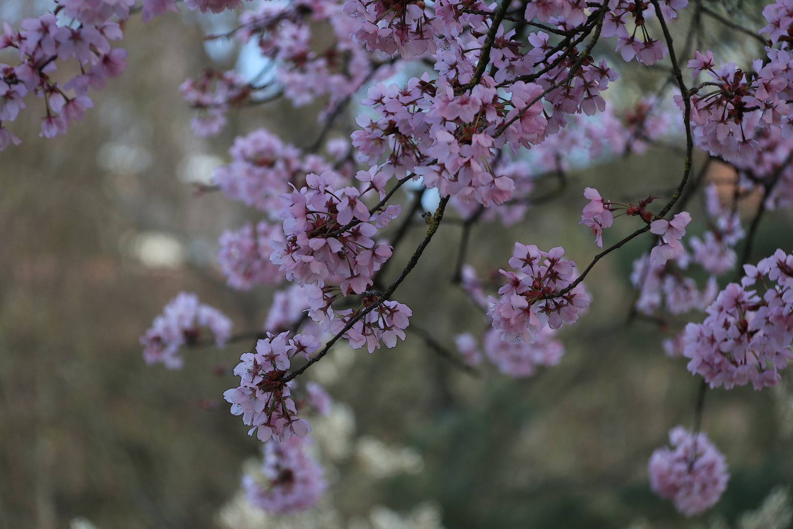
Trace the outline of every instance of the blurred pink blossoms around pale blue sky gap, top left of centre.
<instances>
[{"instance_id":1,"label":"blurred pink blossoms around pale blue sky gap, top left of centre","mask_svg":"<svg viewBox=\"0 0 793 529\"><path fill-rule=\"evenodd\" d=\"M321 25L331 27L334 39L329 45L321 33L319 39L312 34ZM261 2L244 11L233 36L242 44L255 43L268 66L249 82L234 71L214 70L197 80L186 79L182 94L198 110L191 122L193 131L214 136L226 125L228 109L281 95L297 106L328 96L322 117L334 112L367 81L393 73L389 63L378 61L352 40L351 28L342 4L332 0ZM325 47L320 48L318 42Z\"/></svg>"}]
</instances>

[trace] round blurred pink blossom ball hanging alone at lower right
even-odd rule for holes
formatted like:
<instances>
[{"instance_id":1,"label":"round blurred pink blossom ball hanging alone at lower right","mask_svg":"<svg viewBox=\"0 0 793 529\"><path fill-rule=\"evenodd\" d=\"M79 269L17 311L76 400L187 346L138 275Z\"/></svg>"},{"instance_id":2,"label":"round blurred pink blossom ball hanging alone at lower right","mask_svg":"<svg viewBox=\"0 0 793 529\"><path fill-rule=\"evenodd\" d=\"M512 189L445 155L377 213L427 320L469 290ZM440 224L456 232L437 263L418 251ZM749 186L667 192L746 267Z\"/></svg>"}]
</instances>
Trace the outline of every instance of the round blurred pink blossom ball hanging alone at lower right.
<instances>
[{"instance_id":1,"label":"round blurred pink blossom ball hanging alone at lower right","mask_svg":"<svg viewBox=\"0 0 793 529\"><path fill-rule=\"evenodd\" d=\"M670 447L653 452L647 464L650 487L672 500L678 512L694 516L713 507L727 488L730 474L724 454L703 433L682 426L669 431Z\"/></svg>"}]
</instances>

